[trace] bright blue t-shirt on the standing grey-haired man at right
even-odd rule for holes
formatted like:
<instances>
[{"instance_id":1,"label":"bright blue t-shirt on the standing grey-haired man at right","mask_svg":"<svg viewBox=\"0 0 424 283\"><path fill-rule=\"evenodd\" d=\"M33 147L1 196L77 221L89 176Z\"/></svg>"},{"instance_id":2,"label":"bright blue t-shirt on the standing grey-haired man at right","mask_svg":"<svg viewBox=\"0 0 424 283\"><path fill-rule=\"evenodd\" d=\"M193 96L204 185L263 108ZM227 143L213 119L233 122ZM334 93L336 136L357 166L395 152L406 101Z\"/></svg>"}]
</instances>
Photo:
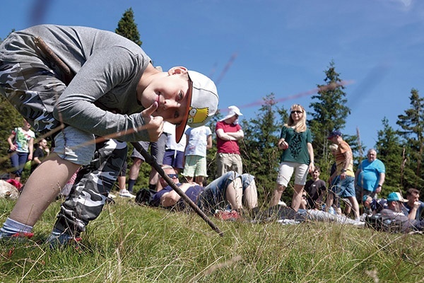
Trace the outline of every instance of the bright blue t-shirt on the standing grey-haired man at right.
<instances>
[{"instance_id":1,"label":"bright blue t-shirt on the standing grey-haired man at right","mask_svg":"<svg viewBox=\"0 0 424 283\"><path fill-rule=\"evenodd\" d=\"M364 190L375 192L379 183L379 175L386 173L386 167L382 161L375 159L375 161L370 162L368 159L365 159L360 163L358 169L360 169L360 173L358 180L356 180L356 185L362 187Z\"/></svg>"}]
</instances>

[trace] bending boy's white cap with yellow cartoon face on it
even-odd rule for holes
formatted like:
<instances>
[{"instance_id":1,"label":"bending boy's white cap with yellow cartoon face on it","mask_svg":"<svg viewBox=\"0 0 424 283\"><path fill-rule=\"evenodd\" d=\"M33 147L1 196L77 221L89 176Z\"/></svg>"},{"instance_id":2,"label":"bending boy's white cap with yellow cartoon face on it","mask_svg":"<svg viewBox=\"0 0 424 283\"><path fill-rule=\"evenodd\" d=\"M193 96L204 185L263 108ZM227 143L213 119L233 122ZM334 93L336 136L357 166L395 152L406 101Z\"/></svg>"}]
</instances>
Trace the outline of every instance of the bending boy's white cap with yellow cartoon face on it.
<instances>
[{"instance_id":1,"label":"bending boy's white cap with yellow cartoon face on it","mask_svg":"<svg viewBox=\"0 0 424 283\"><path fill-rule=\"evenodd\" d=\"M191 87L187 93L187 107L181 123L175 127L175 141L181 140L186 125L200 127L205 125L218 109L218 91L215 83L204 74L187 71Z\"/></svg>"}]
</instances>

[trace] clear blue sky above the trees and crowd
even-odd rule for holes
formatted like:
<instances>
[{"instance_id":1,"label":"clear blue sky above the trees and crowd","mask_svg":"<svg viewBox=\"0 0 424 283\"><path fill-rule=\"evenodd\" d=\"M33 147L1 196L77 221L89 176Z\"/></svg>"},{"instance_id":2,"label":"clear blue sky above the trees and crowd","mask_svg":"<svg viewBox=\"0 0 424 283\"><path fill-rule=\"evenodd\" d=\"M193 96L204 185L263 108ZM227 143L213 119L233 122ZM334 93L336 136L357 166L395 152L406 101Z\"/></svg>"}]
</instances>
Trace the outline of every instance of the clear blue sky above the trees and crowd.
<instances>
[{"instance_id":1,"label":"clear blue sky above the trees and crowd","mask_svg":"<svg viewBox=\"0 0 424 283\"><path fill-rule=\"evenodd\" d=\"M284 98L324 83L331 60L351 82L342 132L353 135L358 127L367 149L384 117L397 129L411 88L424 96L424 1L418 0L6 0L0 37L34 23L114 31L129 7L155 65L211 76L220 109L238 105L247 119L259 105L243 105L269 93L285 109L294 103L308 109L310 95Z\"/></svg>"}]
</instances>

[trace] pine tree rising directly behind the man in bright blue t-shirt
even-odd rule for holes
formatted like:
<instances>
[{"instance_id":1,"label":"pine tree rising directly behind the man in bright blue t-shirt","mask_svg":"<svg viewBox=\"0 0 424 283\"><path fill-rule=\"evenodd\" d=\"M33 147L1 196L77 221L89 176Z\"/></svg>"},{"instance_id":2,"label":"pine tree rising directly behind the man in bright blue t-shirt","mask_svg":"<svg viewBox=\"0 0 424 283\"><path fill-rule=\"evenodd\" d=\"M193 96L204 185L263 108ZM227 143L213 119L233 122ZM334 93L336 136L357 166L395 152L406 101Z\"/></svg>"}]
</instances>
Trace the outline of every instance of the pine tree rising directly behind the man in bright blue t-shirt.
<instances>
[{"instance_id":1,"label":"pine tree rising directly behind the man in bright blue t-shirt","mask_svg":"<svg viewBox=\"0 0 424 283\"><path fill-rule=\"evenodd\" d=\"M377 158L386 167L386 178L382 187L382 197L390 192L401 190L401 166L403 163L401 142L399 135L390 127L386 117L382 120L383 129L378 131L378 140L375 144Z\"/></svg>"}]
</instances>

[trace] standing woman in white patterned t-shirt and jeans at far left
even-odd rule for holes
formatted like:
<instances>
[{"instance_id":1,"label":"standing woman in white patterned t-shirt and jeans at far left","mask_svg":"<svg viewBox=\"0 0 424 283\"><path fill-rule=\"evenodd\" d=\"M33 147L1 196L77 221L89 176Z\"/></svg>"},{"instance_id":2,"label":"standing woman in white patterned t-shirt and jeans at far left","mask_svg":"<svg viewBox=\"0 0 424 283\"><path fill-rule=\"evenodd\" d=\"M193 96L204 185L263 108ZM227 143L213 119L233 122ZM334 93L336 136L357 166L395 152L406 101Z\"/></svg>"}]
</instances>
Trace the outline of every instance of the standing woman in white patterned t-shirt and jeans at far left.
<instances>
[{"instance_id":1,"label":"standing woman in white patterned t-shirt and jeans at far left","mask_svg":"<svg viewBox=\"0 0 424 283\"><path fill-rule=\"evenodd\" d=\"M23 127L17 127L12 130L8 137L9 156L11 158L12 171L9 178L20 182L23 166L27 161L33 160L35 133L30 129L31 125L27 120L23 120Z\"/></svg>"}]
</instances>

